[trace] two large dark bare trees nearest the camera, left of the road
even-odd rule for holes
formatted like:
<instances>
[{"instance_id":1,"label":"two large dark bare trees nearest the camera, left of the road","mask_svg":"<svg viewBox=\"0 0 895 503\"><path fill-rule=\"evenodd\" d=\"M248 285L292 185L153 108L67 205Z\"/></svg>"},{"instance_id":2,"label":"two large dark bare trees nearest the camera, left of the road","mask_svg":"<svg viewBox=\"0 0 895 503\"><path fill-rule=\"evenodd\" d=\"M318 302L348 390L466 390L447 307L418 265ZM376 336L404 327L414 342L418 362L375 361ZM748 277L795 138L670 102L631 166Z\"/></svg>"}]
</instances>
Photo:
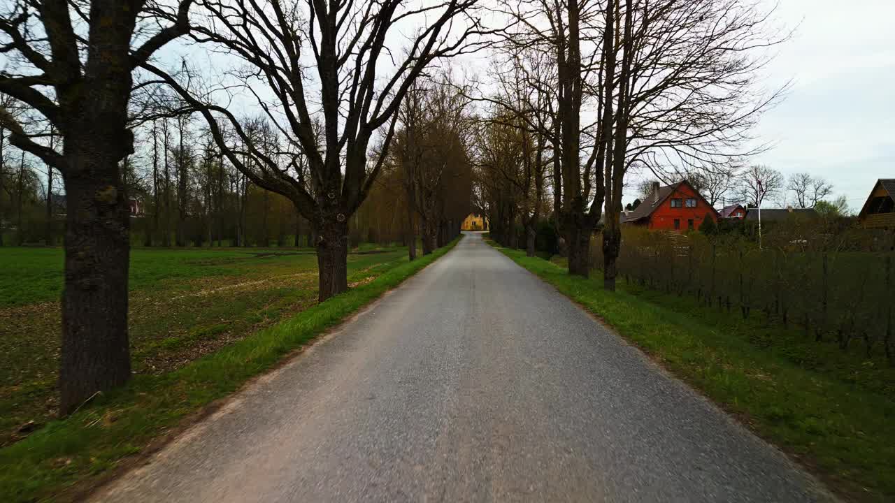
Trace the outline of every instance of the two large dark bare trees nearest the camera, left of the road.
<instances>
[{"instance_id":1,"label":"two large dark bare trees nearest the camera, left of the road","mask_svg":"<svg viewBox=\"0 0 895 503\"><path fill-rule=\"evenodd\" d=\"M183 107L164 115L200 115L223 158L311 222L322 301L347 289L348 221L388 159L400 104L430 64L490 39L480 10L476 0L4 3L0 93L29 118L4 106L0 124L11 144L62 175L66 192L61 413L131 377L123 166L134 125L158 116L134 98L171 90ZM157 53L177 38L238 60L228 79L189 58L165 64ZM276 138L234 114L226 98L237 88L257 98ZM55 144L32 117L52 126Z\"/></svg>"}]
</instances>

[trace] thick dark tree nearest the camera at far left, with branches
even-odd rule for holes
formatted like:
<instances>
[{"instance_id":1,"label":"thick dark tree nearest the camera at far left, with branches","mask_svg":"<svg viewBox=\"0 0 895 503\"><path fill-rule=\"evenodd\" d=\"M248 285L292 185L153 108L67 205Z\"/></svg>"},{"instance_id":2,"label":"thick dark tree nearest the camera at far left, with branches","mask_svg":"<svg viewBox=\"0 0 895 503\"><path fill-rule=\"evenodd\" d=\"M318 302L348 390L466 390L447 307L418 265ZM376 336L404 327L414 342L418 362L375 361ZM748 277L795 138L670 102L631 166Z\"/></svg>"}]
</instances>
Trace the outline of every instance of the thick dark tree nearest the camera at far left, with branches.
<instances>
[{"instance_id":1,"label":"thick dark tree nearest the camera at far left, with branches","mask_svg":"<svg viewBox=\"0 0 895 503\"><path fill-rule=\"evenodd\" d=\"M131 377L129 209L119 165L133 150L132 72L185 32L191 4L11 0L0 13L0 47L15 63L0 72L0 93L42 115L62 145L50 149L0 109L10 142L64 178L61 413Z\"/></svg>"}]
</instances>

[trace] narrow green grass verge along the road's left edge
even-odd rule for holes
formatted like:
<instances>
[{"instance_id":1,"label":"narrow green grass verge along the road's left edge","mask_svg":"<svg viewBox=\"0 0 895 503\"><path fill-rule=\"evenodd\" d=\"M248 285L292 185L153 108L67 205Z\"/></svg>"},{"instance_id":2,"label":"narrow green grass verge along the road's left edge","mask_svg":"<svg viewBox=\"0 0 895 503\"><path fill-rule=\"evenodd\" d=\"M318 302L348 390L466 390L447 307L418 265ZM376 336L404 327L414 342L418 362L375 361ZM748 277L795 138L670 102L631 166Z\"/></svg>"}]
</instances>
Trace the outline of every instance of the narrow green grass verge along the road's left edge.
<instances>
[{"instance_id":1,"label":"narrow green grass verge along the road's left edge","mask_svg":"<svg viewBox=\"0 0 895 503\"><path fill-rule=\"evenodd\" d=\"M187 416L227 396L447 253L444 248L176 371L138 375L65 420L0 449L0 501L70 500Z\"/></svg>"}]
</instances>

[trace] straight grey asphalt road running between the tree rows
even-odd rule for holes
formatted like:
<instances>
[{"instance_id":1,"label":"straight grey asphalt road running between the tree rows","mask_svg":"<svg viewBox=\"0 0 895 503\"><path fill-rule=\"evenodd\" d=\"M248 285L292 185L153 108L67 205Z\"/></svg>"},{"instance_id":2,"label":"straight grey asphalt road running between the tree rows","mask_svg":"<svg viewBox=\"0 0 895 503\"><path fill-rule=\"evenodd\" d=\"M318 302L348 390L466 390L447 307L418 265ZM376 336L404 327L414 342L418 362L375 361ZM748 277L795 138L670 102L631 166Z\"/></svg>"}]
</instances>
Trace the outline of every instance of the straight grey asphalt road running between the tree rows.
<instances>
[{"instance_id":1,"label":"straight grey asphalt road running between the tree rows","mask_svg":"<svg viewBox=\"0 0 895 503\"><path fill-rule=\"evenodd\" d=\"M826 501L470 234L97 501Z\"/></svg>"}]
</instances>

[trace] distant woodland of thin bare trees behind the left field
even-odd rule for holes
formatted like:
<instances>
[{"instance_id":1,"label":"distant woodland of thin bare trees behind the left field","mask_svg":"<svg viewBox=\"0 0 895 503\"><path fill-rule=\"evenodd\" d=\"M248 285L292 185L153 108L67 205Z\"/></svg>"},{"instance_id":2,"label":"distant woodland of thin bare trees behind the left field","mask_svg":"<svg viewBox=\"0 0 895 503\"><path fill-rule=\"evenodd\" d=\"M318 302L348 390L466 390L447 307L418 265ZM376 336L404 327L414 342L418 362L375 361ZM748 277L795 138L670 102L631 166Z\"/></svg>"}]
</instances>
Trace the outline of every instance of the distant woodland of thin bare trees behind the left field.
<instances>
[{"instance_id":1,"label":"distant woodland of thin bare trees behind the left field","mask_svg":"<svg viewBox=\"0 0 895 503\"><path fill-rule=\"evenodd\" d=\"M223 162L209 132L184 118L156 118L133 130L137 152L121 163L124 194L139 204L132 243L283 246L287 236L290 245L304 243L310 226L294 205L249 183ZM271 129L258 121L246 127ZM54 172L0 136L0 245L61 242L65 195Z\"/></svg>"}]
</instances>

